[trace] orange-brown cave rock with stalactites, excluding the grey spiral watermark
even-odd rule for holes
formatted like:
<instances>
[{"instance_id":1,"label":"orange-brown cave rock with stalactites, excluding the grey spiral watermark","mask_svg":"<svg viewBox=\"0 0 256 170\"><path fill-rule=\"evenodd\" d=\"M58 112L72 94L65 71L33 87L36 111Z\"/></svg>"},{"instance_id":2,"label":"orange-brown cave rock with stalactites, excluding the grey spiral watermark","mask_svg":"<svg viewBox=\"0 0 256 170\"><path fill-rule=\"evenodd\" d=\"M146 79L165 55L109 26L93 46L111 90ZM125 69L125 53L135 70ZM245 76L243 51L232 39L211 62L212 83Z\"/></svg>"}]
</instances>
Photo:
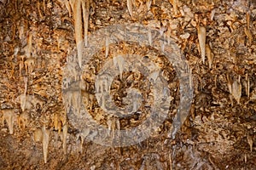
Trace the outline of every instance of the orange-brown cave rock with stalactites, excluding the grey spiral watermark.
<instances>
[{"instance_id":1,"label":"orange-brown cave rock with stalactites, excluding the grey spiral watermark","mask_svg":"<svg viewBox=\"0 0 256 170\"><path fill-rule=\"evenodd\" d=\"M255 3L243 0L0 1L0 168L256 168L255 17ZM78 49L98 41L90 34L127 23L159 32L144 32L148 46L103 38L105 46L84 65ZM166 40L160 50L150 47L156 35ZM187 60L194 89L175 139L170 129L181 89L162 53L168 37ZM125 54L138 56L137 70L124 66ZM113 80L102 71L108 61L119 72ZM109 130L107 136L139 126L157 98L152 86L164 79L171 105L150 138L111 148L88 141L97 135L90 128L73 125L71 113L83 115L85 108ZM121 108L119 115L106 113L112 105Z\"/></svg>"}]
</instances>

